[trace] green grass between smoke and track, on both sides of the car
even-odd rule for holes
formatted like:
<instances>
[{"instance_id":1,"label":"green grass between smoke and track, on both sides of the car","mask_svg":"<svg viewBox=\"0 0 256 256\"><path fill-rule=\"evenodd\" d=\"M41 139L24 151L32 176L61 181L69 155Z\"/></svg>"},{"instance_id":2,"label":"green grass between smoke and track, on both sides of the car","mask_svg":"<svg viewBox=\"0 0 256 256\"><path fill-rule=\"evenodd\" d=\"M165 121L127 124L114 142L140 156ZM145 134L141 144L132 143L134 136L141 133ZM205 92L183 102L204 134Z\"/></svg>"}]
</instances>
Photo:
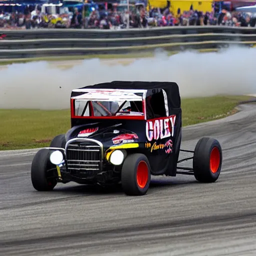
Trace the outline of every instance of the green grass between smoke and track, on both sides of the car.
<instances>
[{"instance_id":1,"label":"green grass between smoke and track, on both sides of the car","mask_svg":"<svg viewBox=\"0 0 256 256\"><path fill-rule=\"evenodd\" d=\"M182 125L218 119L236 110L249 96L214 96L182 99ZM0 150L48 146L70 127L67 110L0 109Z\"/></svg>"}]
</instances>

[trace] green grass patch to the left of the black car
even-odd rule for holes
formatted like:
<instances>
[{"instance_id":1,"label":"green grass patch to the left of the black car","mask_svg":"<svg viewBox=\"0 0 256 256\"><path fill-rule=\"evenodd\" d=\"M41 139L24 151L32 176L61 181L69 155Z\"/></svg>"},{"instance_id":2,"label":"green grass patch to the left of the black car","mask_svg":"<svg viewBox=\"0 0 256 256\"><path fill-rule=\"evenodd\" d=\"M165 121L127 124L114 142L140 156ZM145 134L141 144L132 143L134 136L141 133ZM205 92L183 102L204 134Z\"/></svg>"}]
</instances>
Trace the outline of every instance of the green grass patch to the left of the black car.
<instances>
[{"instance_id":1,"label":"green grass patch to the left of the black car","mask_svg":"<svg viewBox=\"0 0 256 256\"><path fill-rule=\"evenodd\" d=\"M69 109L0 109L0 120L0 150L48 146L70 126Z\"/></svg>"}]
</instances>

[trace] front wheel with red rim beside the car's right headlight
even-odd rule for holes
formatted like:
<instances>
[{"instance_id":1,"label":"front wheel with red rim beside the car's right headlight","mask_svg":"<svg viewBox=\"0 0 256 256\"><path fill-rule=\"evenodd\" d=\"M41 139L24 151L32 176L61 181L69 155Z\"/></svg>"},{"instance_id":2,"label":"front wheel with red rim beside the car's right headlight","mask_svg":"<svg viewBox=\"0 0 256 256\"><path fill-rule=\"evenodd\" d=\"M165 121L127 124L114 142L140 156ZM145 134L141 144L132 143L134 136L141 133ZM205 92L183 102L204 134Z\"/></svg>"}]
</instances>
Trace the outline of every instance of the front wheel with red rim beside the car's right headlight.
<instances>
[{"instance_id":1,"label":"front wheel with red rim beside the car's right headlight","mask_svg":"<svg viewBox=\"0 0 256 256\"><path fill-rule=\"evenodd\" d=\"M121 184L127 195L144 195L147 192L150 184L150 165L144 154L130 154L124 159Z\"/></svg>"}]
</instances>

